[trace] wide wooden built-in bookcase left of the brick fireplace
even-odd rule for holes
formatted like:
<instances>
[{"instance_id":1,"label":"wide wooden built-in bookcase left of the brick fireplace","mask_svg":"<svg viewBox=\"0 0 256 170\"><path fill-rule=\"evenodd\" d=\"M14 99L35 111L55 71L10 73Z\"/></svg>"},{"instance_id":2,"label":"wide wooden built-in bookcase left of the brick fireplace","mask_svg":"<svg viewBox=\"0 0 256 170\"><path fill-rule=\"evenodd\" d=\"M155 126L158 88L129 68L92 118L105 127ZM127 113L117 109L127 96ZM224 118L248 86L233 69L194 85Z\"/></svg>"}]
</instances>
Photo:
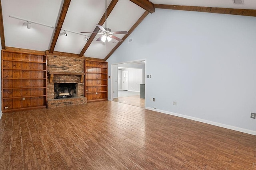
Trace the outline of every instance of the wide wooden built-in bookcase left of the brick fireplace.
<instances>
[{"instance_id":1,"label":"wide wooden built-in bookcase left of the brick fireplace","mask_svg":"<svg viewBox=\"0 0 256 170\"><path fill-rule=\"evenodd\" d=\"M46 107L46 76L45 55L3 50L3 113Z\"/></svg>"}]
</instances>

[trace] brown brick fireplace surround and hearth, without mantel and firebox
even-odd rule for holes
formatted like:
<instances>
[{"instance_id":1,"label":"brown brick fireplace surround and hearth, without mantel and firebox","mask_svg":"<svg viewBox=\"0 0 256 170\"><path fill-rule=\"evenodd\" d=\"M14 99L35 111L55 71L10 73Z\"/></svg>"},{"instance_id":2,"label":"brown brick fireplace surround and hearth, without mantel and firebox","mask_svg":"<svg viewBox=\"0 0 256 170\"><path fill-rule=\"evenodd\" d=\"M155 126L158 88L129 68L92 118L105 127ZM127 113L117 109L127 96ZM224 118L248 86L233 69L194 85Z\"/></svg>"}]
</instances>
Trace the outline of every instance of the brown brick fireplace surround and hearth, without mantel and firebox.
<instances>
[{"instance_id":1,"label":"brown brick fireplace surround and hearth, without mantel and firebox","mask_svg":"<svg viewBox=\"0 0 256 170\"><path fill-rule=\"evenodd\" d=\"M81 72L84 72L84 59L81 57L47 55L47 69L48 69L48 72L53 71L53 72L81 73ZM78 97L84 96L84 82L80 83L80 76L57 74L57 75L54 75L52 83L49 83L49 79L47 80L47 101L48 101L47 103L48 104L50 104L49 102L52 102L52 100L54 100L54 83L78 83ZM64 100L67 100L67 99L64 99ZM71 100L71 101L72 101L72 104L71 103L59 104L59 107L66 106L66 105L76 105L75 103L80 103L79 100ZM83 99L83 101L87 102L87 99L86 100Z\"/></svg>"}]
</instances>

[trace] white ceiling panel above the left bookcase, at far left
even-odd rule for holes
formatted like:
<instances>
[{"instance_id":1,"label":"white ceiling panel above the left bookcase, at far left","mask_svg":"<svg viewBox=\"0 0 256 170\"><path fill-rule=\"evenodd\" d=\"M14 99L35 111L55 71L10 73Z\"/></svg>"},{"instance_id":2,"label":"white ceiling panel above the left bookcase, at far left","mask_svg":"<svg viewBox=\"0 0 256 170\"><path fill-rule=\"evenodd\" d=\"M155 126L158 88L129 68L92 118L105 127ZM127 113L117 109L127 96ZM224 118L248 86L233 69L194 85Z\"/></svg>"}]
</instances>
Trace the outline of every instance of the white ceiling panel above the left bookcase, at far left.
<instances>
[{"instance_id":1,"label":"white ceiling panel above the left bookcase, at far left","mask_svg":"<svg viewBox=\"0 0 256 170\"><path fill-rule=\"evenodd\" d=\"M54 29L34 23L31 24L31 29L27 29L25 21L9 16L54 26L62 3L62 0L2 1L6 46L40 51L48 49Z\"/></svg>"}]
</instances>

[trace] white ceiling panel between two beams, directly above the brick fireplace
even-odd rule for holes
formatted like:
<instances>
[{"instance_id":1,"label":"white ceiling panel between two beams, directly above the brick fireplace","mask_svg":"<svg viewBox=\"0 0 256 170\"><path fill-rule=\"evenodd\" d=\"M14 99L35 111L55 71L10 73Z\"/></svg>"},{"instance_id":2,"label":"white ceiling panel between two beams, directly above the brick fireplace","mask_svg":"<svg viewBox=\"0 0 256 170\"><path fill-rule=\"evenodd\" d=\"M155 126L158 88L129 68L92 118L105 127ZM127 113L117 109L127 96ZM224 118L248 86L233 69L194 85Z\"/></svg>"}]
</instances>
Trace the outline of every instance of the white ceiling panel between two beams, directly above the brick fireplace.
<instances>
[{"instance_id":1,"label":"white ceiling panel between two beams, directly above the brick fireplace","mask_svg":"<svg viewBox=\"0 0 256 170\"><path fill-rule=\"evenodd\" d=\"M107 0L107 6L110 4ZM103 0L73 0L70 3L62 29L67 30L68 36L61 33L58 37L54 51L80 54L87 41L85 36L71 33L92 32L105 12ZM91 33L83 33L90 37Z\"/></svg>"}]
</instances>

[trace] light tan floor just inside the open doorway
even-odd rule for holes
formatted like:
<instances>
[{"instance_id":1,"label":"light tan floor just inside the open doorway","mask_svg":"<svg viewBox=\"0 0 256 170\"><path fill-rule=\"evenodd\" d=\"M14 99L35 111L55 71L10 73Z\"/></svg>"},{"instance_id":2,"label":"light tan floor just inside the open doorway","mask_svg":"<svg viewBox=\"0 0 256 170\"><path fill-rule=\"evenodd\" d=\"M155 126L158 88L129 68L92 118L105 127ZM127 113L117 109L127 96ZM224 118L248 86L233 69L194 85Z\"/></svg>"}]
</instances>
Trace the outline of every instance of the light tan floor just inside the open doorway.
<instances>
[{"instance_id":1,"label":"light tan floor just inside the open doorway","mask_svg":"<svg viewBox=\"0 0 256 170\"><path fill-rule=\"evenodd\" d=\"M115 98L114 101L145 108L145 99L141 99L140 96Z\"/></svg>"}]
</instances>

